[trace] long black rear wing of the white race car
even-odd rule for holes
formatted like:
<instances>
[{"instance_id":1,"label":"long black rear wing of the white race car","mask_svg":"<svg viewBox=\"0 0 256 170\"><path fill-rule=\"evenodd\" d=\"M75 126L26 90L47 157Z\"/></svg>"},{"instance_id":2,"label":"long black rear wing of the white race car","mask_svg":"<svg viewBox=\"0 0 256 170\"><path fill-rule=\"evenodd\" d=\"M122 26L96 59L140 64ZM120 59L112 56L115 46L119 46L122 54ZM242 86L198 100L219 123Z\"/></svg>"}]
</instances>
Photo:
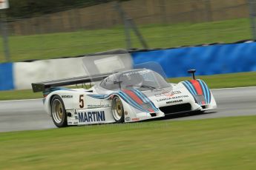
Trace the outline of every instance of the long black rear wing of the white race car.
<instances>
[{"instance_id":1,"label":"long black rear wing of the white race car","mask_svg":"<svg viewBox=\"0 0 256 170\"><path fill-rule=\"evenodd\" d=\"M93 76L82 76L76 78L65 78L57 81L45 81L40 83L33 83L31 84L33 92L43 92L45 89L50 89L51 87L56 86L69 86L73 84L85 84L95 81L102 81L102 79L107 78L109 75L113 73L105 73L100 75L93 75Z\"/></svg>"}]
</instances>

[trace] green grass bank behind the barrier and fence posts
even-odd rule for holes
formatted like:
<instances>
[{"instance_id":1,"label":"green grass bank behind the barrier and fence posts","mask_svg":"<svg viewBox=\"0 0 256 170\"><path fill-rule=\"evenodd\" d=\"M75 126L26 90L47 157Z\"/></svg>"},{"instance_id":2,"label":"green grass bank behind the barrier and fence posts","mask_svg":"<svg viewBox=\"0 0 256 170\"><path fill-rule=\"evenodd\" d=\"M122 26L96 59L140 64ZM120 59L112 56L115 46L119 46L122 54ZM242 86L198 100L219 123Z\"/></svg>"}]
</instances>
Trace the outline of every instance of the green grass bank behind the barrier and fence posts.
<instances>
[{"instance_id":1,"label":"green grass bank behind the barrier and fence posts","mask_svg":"<svg viewBox=\"0 0 256 170\"><path fill-rule=\"evenodd\" d=\"M139 25L139 28L150 48L230 43L252 38L248 18L197 24L148 24ZM134 35L132 41L133 47L141 48ZM124 29L121 26L72 33L10 35L9 43L12 61L58 58L126 47ZM5 61L3 51L0 39L0 62Z\"/></svg>"}]
</instances>

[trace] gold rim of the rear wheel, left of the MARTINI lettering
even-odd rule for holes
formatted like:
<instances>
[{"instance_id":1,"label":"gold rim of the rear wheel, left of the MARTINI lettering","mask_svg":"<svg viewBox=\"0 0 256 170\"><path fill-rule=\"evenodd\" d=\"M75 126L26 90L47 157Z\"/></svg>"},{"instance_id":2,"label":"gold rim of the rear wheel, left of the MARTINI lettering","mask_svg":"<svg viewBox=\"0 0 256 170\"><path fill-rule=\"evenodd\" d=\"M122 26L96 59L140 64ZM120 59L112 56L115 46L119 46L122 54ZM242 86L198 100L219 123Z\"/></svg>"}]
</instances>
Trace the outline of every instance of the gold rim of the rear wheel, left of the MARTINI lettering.
<instances>
[{"instance_id":1,"label":"gold rim of the rear wheel, left of the MARTINI lettering","mask_svg":"<svg viewBox=\"0 0 256 170\"><path fill-rule=\"evenodd\" d=\"M64 118L64 109L61 101L59 99L55 99L52 104L52 114L53 120L56 123L61 123Z\"/></svg>"}]
</instances>

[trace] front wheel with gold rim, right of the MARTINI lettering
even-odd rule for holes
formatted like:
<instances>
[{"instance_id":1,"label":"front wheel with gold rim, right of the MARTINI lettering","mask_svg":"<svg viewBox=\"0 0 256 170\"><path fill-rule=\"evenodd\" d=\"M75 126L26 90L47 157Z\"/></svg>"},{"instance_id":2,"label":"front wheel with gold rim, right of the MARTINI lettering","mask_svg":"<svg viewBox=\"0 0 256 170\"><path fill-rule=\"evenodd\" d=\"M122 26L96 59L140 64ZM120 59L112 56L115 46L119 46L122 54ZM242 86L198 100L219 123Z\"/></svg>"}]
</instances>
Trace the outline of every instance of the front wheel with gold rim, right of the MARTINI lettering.
<instances>
[{"instance_id":1,"label":"front wheel with gold rim, right of the MARTINI lettering","mask_svg":"<svg viewBox=\"0 0 256 170\"><path fill-rule=\"evenodd\" d=\"M112 114L113 114L114 120L116 120L116 123L123 123L125 121L122 101L117 96L115 96L112 100Z\"/></svg>"}]
</instances>

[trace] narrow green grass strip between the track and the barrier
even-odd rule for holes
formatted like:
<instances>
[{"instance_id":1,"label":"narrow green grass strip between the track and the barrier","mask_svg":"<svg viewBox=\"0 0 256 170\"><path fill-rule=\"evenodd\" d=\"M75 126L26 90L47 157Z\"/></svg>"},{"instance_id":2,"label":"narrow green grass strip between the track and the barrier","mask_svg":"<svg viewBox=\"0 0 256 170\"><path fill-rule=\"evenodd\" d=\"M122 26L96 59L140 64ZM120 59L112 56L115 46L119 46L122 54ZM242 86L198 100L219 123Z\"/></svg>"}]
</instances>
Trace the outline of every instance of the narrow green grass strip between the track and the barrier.
<instances>
[{"instance_id":1,"label":"narrow green grass strip between the track and the barrier","mask_svg":"<svg viewBox=\"0 0 256 170\"><path fill-rule=\"evenodd\" d=\"M256 72L240 72L223 75L203 75L197 76L208 84L211 89L237 87L237 86L256 86ZM170 78L168 81L178 83L180 81L190 80L186 78ZM33 93L31 89L0 91L0 101L14 99L42 98L42 93Z\"/></svg>"}]
</instances>

